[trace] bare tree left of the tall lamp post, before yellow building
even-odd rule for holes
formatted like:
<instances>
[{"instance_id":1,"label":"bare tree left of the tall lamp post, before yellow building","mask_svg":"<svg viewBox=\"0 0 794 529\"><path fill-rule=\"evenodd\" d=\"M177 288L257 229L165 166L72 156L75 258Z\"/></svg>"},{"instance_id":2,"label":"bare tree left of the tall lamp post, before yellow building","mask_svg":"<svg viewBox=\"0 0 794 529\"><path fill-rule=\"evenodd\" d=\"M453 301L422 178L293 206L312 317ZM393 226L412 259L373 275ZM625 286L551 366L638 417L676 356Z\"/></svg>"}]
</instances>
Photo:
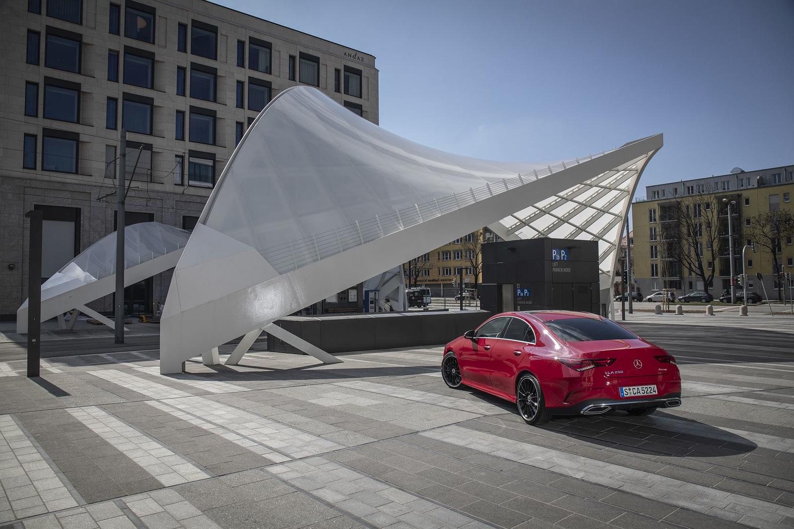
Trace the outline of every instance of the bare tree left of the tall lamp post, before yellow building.
<instances>
[{"instance_id":1,"label":"bare tree left of the tall lamp post, before yellow building","mask_svg":"<svg viewBox=\"0 0 794 529\"><path fill-rule=\"evenodd\" d=\"M727 224L723 226L719 218L720 204L716 194L703 189L702 194L660 205L662 277L683 275L683 270L675 270L682 266L703 281L703 290L708 293L717 259L728 244ZM707 261L711 261L711 268Z\"/></svg>"}]
</instances>

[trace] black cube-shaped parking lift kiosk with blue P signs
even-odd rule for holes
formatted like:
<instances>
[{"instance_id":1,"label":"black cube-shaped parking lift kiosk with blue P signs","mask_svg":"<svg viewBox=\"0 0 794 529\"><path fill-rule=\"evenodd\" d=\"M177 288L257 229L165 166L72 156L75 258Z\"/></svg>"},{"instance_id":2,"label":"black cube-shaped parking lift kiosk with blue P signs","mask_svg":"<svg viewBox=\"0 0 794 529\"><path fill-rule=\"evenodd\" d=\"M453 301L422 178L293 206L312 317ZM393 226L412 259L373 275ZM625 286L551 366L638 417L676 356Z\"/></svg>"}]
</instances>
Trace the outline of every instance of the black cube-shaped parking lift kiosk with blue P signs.
<instances>
[{"instance_id":1,"label":"black cube-shaped parking lift kiosk with blue P signs","mask_svg":"<svg viewBox=\"0 0 794 529\"><path fill-rule=\"evenodd\" d=\"M482 245L480 308L600 312L594 240L506 240Z\"/></svg>"}]
</instances>

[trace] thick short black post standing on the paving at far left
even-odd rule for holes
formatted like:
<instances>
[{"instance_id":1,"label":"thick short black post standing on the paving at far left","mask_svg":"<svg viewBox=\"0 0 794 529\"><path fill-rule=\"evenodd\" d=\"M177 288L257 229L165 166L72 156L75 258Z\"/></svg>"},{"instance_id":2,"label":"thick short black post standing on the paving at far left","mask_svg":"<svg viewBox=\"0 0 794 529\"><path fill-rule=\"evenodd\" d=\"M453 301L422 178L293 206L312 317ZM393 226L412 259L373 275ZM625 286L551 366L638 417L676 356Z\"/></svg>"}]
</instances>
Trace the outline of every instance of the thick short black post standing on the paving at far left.
<instances>
[{"instance_id":1,"label":"thick short black post standing on the paving at far left","mask_svg":"<svg viewBox=\"0 0 794 529\"><path fill-rule=\"evenodd\" d=\"M41 358L41 217L40 211L25 213L30 219L28 251L28 376L38 377Z\"/></svg>"}]
</instances>

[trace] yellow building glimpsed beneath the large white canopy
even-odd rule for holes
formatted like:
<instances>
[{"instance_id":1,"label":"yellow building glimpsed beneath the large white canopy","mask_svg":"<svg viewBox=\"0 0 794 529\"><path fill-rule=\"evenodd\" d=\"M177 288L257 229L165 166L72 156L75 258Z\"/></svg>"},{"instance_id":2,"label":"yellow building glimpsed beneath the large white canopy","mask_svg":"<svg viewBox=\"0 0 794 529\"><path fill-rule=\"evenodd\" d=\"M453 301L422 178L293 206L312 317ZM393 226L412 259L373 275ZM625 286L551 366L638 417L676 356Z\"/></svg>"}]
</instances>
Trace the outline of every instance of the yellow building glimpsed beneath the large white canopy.
<instances>
[{"instance_id":1,"label":"yellow building glimpsed beneath the large white canopy","mask_svg":"<svg viewBox=\"0 0 794 529\"><path fill-rule=\"evenodd\" d=\"M453 285L457 286L462 268L464 286L474 288L482 279L480 245L498 240L499 236L494 232L480 228L434 251L419 255L403 264L406 286L452 288Z\"/></svg>"}]
</instances>

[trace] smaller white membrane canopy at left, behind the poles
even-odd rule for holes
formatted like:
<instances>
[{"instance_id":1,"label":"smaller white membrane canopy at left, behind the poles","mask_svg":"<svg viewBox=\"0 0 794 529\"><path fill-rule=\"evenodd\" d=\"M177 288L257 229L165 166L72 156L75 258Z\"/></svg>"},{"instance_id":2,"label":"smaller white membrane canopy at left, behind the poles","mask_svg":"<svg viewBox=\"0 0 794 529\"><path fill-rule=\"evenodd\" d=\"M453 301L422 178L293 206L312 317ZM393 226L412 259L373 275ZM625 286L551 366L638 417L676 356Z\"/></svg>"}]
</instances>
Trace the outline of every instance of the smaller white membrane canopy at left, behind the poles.
<instances>
[{"instance_id":1,"label":"smaller white membrane canopy at left, behind the poles","mask_svg":"<svg viewBox=\"0 0 794 529\"><path fill-rule=\"evenodd\" d=\"M127 226L124 230L124 268L129 274L125 274L125 284L141 281L138 278L140 274L133 269L177 251L181 255L190 235L183 229L159 222ZM168 259L160 259L152 263L153 266L144 266L144 273L166 267L143 278L174 267L179 255L174 255L172 263ZM168 263L170 266L167 266ZM115 264L116 232L113 232L71 259L41 285L41 321L112 293L115 288ZM28 300L25 300L17 310L18 332L27 332L27 307Z\"/></svg>"}]
</instances>

